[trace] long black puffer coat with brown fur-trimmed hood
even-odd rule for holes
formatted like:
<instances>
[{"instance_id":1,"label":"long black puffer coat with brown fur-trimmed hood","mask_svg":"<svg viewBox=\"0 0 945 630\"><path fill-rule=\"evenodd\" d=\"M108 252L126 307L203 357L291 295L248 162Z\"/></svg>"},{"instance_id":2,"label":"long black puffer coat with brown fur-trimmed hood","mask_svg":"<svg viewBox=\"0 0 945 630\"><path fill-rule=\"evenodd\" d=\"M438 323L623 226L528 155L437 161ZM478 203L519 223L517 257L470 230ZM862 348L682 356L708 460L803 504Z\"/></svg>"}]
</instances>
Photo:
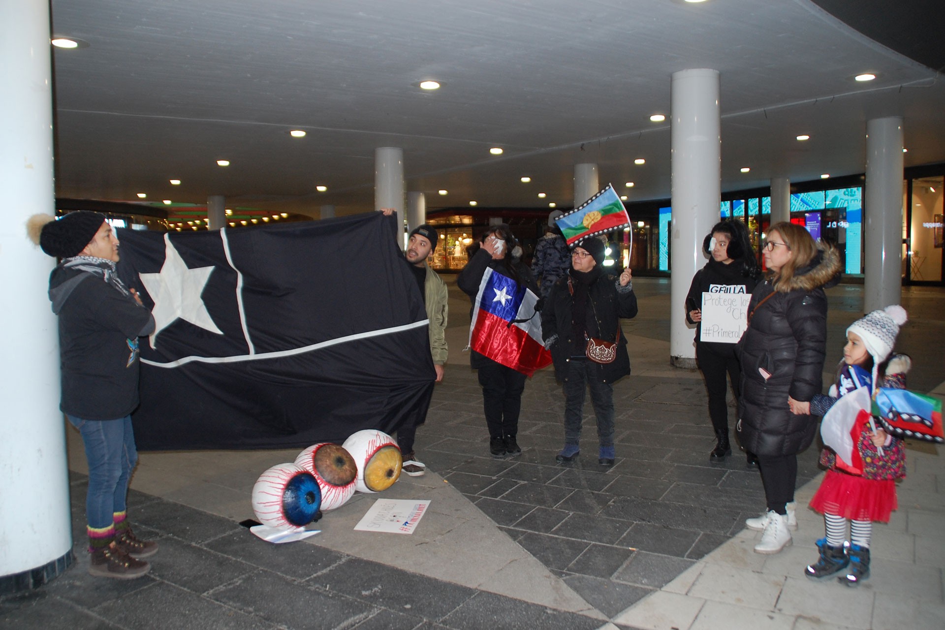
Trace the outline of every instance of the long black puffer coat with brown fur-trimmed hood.
<instances>
[{"instance_id":1,"label":"long black puffer coat with brown fur-trimmed hood","mask_svg":"<svg viewBox=\"0 0 945 630\"><path fill-rule=\"evenodd\" d=\"M840 257L821 248L777 292L770 281L755 287L749 322L738 343L742 363L742 447L759 455L790 455L811 445L812 416L796 416L787 398L809 401L822 389L827 344L827 297L823 288L839 281ZM765 370L770 376L765 380Z\"/></svg>"}]
</instances>

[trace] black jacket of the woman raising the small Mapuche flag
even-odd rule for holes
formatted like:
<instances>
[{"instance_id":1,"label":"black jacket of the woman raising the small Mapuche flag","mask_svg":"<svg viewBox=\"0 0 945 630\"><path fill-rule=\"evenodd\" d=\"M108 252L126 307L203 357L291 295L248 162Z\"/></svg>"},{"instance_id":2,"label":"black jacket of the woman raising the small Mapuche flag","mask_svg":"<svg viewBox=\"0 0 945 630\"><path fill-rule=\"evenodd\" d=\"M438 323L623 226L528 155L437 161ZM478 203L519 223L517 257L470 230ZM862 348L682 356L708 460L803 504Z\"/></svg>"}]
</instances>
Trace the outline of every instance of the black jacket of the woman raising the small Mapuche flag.
<instances>
[{"instance_id":1,"label":"black jacket of the woman raising the small Mapuche flag","mask_svg":"<svg viewBox=\"0 0 945 630\"><path fill-rule=\"evenodd\" d=\"M568 363L575 352L586 348L584 340L574 339L572 312L574 300L568 290L569 275L558 279L551 288L551 293L541 310L541 335L545 346L551 349L551 358L555 362L555 376L558 381L566 381ZM592 307L593 304L593 307ZM596 316L594 315L596 312ZM588 301L584 309L585 330L589 336L605 341L613 341L620 331L620 318L629 319L637 315L637 297L633 293L633 284L620 286L620 281L609 274L600 274L588 286ZM598 327L598 321L600 326ZM630 373L630 357L627 354L627 337L620 332L617 358L609 364L597 364L597 378L601 383L613 383Z\"/></svg>"}]
</instances>

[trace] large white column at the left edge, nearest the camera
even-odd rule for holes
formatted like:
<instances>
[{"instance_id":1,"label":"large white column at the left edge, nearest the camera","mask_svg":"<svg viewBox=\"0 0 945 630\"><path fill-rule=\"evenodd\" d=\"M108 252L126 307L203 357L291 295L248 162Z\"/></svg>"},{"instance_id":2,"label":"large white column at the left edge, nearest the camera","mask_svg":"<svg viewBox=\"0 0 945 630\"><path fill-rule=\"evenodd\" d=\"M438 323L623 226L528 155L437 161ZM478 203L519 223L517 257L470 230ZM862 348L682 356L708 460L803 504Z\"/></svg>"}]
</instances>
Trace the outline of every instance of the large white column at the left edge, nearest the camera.
<instances>
[{"instance_id":1,"label":"large white column at the left edge, nearest the camera","mask_svg":"<svg viewBox=\"0 0 945 630\"><path fill-rule=\"evenodd\" d=\"M0 42L0 577L20 576L6 581L13 590L72 562L59 336L46 297L55 260L26 238L27 217L56 213L48 3L0 2Z\"/></svg>"}]
</instances>

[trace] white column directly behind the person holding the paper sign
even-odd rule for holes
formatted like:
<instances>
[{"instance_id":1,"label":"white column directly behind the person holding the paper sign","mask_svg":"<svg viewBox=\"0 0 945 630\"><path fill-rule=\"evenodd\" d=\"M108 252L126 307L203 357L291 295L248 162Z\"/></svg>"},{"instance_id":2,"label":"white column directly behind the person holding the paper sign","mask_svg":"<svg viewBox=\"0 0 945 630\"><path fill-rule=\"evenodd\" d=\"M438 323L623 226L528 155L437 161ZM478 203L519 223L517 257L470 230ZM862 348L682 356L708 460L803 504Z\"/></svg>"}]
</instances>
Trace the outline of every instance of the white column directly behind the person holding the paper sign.
<instances>
[{"instance_id":1,"label":"white column directly behind the person holding the paper sign","mask_svg":"<svg viewBox=\"0 0 945 630\"><path fill-rule=\"evenodd\" d=\"M670 364L696 366L685 301L696 270L707 259L702 240L718 217L722 196L718 71L681 70L672 80L673 220L670 227Z\"/></svg>"}]
</instances>

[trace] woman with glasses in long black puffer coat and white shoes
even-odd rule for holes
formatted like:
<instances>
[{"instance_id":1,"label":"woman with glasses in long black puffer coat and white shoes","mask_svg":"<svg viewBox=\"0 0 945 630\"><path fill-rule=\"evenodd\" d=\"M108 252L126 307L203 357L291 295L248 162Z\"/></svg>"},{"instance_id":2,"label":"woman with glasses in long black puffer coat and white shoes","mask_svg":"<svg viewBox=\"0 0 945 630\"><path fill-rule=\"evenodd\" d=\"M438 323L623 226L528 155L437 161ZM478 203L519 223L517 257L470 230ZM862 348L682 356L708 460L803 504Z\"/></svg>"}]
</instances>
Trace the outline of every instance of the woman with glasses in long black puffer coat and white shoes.
<instances>
[{"instance_id":1,"label":"woman with glasses in long black puffer coat and white shoes","mask_svg":"<svg viewBox=\"0 0 945 630\"><path fill-rule=\"evenodd\" d=\"M742 446L757 454L765 485L766 513L747 519L762 530L756 553L778 553L797 529L794 486L798 453L811 445L816 420L791 413L789 403L821 393L827 341L824 287L839 281L840 257L792 223L767 231L768 274L748 305L748 327L738 344L742 362Z\"/></svg>"}]
</instances>

